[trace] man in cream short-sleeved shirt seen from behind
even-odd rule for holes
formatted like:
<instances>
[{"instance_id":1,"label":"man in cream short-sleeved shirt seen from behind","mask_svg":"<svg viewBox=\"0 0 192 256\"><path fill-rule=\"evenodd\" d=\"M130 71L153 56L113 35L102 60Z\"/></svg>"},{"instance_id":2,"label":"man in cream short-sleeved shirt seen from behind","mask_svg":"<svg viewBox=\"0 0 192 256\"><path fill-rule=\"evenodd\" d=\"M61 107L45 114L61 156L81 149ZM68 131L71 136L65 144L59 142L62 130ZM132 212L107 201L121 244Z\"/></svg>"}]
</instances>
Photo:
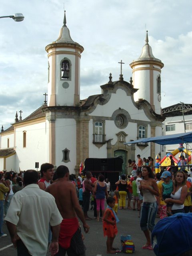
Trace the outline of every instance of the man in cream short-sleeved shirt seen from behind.
<instances>
[{"instance_id":1,"label":"man in cream short-sleeved shirt seen from behind","mask_svg":"<svg viewBox=\"0 0 192 256\"><path fill-rule=\"evenodd\" d=\"M62 216L54 197L38 186L38 173L27 170L24 188L14 194L6 224L18 256L45 256L48 248L49 223L52 226L50 252L58 252L58 235Z\"/></svg>"}]
</instances>

